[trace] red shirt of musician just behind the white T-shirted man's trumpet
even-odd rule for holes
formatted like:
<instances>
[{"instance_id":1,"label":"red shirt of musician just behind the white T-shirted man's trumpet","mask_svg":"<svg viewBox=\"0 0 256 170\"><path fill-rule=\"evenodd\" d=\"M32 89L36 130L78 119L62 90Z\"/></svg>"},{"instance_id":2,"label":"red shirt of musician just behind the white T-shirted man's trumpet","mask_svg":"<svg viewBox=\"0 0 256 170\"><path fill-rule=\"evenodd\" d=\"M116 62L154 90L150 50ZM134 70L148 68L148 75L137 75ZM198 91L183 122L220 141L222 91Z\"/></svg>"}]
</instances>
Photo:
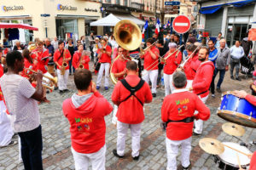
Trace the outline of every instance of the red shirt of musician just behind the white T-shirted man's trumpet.
<instances>
[{"instance_id":1,"label":"red shirt of musician just behind the white T-shirted man's trumpet","mask_svg":"<svg viewBox=\"0 0 256 170\"><path fill-rule=\"evenodd\" d=\"M47 69L45 68L48 65L49 59L47 58L49 56L49 50L47 48L43 48L42 51L38 51L38 49L35 49L32 51L32 59L35 59L38 61L36 68L39 71L42 71L43 73L47 72Z\"/></svg>"}]
</instances>

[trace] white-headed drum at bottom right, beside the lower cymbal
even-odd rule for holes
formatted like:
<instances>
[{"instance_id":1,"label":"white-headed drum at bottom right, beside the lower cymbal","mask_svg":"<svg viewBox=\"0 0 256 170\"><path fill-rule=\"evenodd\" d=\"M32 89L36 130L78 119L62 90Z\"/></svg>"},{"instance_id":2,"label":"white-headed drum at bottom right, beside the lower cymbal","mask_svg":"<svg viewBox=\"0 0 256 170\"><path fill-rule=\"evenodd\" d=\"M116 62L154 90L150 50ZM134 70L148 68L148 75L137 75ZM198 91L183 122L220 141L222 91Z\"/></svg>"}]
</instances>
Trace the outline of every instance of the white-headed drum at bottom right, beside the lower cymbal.
<instances>
[{"instance_id":1,"label":"white-headed drum at bottom right, beside the lower cymbal","mask_svg":"<svg viewBox=\"0 0 256 170\"><path fill-rule=\"evenodd\" d=\"M223 142L223 144L226 144L232 148L236 148L236 150L241 150L242 152L246 154L252 154L250 150L248 150L245 146L241 146L240 144L232 143L232 142ZM239 170L239 165L237 161L236 154L239 156L239 160L241 163L242 168L249 167L250 165L250 159L235 151L232 150L226 146L224 146L224 152L220 155L213 156L215 163L217 163L218 167L223 170Z\"/></svg>"}]
</instances>

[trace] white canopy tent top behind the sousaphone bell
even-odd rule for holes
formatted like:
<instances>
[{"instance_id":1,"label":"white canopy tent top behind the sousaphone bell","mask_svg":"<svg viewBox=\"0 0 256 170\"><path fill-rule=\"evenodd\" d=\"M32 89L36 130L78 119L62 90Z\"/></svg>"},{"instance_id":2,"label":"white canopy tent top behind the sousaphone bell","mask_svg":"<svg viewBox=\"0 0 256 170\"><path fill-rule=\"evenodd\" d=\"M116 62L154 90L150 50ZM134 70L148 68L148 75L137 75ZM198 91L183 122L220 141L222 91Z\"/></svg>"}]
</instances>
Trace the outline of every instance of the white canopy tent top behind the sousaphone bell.
<instances>
[{"instance_id":1,"label":"white canopy tent top behind the sousaphone bell","mask_svg":"<svg viewBox=\"0 0 256 170\"><path fill-rule=\"evenodd\" d=\"M131 20L138 26L144 26L145 24L143 20L139 20L130 14L108 14L108 16L102 18L101 20L91 22L90 26L115 26L120 20Z\"/></svg>"}]
</instances>

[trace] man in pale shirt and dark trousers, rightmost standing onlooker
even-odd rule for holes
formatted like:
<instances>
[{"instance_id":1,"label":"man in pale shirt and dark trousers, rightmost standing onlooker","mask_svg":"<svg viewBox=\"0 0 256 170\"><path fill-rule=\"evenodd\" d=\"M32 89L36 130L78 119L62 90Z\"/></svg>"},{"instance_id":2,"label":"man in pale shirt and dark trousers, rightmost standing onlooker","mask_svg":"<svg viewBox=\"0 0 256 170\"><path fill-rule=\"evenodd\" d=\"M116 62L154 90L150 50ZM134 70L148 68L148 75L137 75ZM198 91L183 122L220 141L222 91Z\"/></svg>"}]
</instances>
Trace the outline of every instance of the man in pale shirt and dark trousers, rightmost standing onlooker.
<instances>
[{"instance_id":1,"label":"man in pale shirt and dark trousers, rightmost standing onlooker","mask_svg":"<svg viewBox=\"0 0 256 170\"><path fill-rule=\"evenodd\" d=\"M244 56L243 48L240 42L236 41L235 45L230 48L230 78L235 79L233 76L234 68L236 69L236 80L241 81L239 76L240 59Z\"/></svg>"}]
</instances>

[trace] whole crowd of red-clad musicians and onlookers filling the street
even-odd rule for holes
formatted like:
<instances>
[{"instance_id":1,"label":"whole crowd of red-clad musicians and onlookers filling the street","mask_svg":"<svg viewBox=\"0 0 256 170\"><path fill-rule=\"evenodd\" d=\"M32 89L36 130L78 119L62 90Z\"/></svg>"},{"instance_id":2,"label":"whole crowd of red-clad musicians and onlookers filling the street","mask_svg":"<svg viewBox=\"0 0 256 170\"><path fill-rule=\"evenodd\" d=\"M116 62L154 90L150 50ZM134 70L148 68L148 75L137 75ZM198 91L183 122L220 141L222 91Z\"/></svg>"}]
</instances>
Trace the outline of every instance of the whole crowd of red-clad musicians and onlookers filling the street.
<instances>
[{"instance_id":1,"label":"whole crowd of red-clad musicians and onlookers filling the street","mask_svg":"<svg viewBox=\"0 0 256 170\"><path fill-rule=\"evenodd\" d=\"M5 141L5 144L0 141L1 146L13 145L12 135L18 133L25 169L43 169L38 102L49 102L46 98L49 87L43 83L43 77L46 74L52 78L57 76L58 82L53 86L63 94L69 91L68 77L73 74L77 92L63 102L62 110L70 124L75 168L87 169L91 161L93 169L105 169L104 116L111 112L112 122L117 127L113 156L125 156L125 139L130 128L131 156L138 161L145 119L143 105L157 96L163 77L166 97L161 107L161 120L166 127L167 169L177 169L179 145L182 146L183 169L189 169L192 135L200 136L203 121L210 117L210 110L205 105L210 91L213 98L215 89L222 92L221 84L229 65L230 78L241 81L240 59L245 56L245 51L240 42L236 41L232 48L228 48L225 39L219 37L219 47L212 40L207 41L207 46L202 46L201 36L195 38L189 34L187 41L181 42L177 34L167 35L164 39L158 39L154 34L146 41L142 53L140 48L128 51L119 46L113 36L98 38L91 34L89 41L89 50L85 47L85 37L81 37L76 46L72 39L68 39L65 45L56 38L52 42L46 38L44 41L36 39L27 47L21 47L17 42L12 51L1 51L0 86L3 95L0 119L4 126L0 124L0 131ZM94 62L96 83L92 82L90 60ZM104 90L109 90L110 74L118 79L111 98L113 106L98 92L102 88L103 75ZM256 105L256 98L252 95L244 91L236 91L236 95ZM3 112L9 113L10 118L3 118Z\"/></svg>"}]
</instances>

